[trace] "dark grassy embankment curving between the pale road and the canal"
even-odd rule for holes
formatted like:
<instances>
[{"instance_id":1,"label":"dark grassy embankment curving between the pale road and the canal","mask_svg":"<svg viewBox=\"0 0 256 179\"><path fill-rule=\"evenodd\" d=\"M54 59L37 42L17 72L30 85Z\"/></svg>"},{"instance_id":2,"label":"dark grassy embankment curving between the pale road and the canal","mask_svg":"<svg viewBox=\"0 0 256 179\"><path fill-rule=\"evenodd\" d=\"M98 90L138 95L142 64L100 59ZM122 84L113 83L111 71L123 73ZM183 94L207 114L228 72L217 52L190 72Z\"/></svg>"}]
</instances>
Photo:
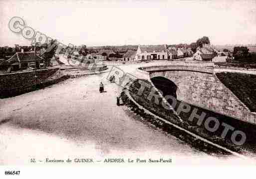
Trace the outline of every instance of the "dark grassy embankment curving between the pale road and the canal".
<instances>
[{"instance_id":1,"label":"dark grassy embankment curving between the pale road and the canal","mask_svg":"<svg viewBox=\"0 0 256 179\"><path fill-rule=\"evenodd\" d=\"M151 85L151 88L155 88L154 85L149 82L148 80L143 80L143 82L148 83ZM173 108L167 109L166 107L163 107L163 103L165 104L165 99L161 94L159 94L158 90L155 89L155 95L158 95L159 98L156 100L155 97L149 98L149 94L151 93L151 88L145 88L143 93L141 95L138 94L138 89L140 88L141 82L138 80L135 80L129 87L126 89L126 92L122 92L121 98L124 101L124 103L130 107L132 111L135 113L141 115L144 120L152 123L153 125L157 125L159 128L162 128L164 131L168 131L168 133L171 133L175 137L188 142L195 148L200 148L201 150L209 153L229 153L227 151L235 152L235 153L243 153L244 148L242 146L237 146L232 143L230 138L223 138L220 135L217 135L217 133L212 133L208 131L204 125L198 126L196 124L193 124L192 122L188 121L188 118L182 118L182 121L180 120L180 116L177 115L176 111ZM129 93L126 95L126 93ZM129 96L132 98L130 99ZM132 101L136 101L139 105L141 105L144 109L139 108L137 105L135 105ZM158 101L158 102L156 102ZM177 101L177 104L181 104L184 102ZM168 103L169 104L169 103ZM167 105L167 104L165 104ZM204 142L202 140L199 140L197 137L193 137L189 134L185 134L184 131L180 131L176 129L175 127L170 126L169 124L156 119L152 118L152 116L145 113L145 110L148 110L152 114L159 116L160 118L177 125L178 127L189 131L192 134L195 134L199 136L202 139L206 139L207 141L210 141L210 143L217 144L217 146L223 147L227 149L226 151L218 148L216 146L211 145L209 142Z\"/></svg>"}]
</instances>

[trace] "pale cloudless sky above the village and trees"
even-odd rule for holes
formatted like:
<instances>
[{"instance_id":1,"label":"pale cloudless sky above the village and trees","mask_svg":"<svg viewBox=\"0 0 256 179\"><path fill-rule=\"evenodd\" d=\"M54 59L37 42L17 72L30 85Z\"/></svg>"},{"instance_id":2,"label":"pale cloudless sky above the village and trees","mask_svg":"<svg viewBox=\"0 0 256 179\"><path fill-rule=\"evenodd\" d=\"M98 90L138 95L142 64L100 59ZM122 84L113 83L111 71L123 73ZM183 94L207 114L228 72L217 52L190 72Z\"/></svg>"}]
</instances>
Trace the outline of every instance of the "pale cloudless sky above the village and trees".
<instances>
[{"instance_id":1,"label":"pale cloudless sky above the village and trees","mask_svg":"<svg viewBox=\"0 0 256 179\"><path fill-rule=\"evenodd\" d=\"M13 16L66 45L256 44L256 0L0 0L0 46L31 43Z\"/></svg>"}]
</instances>

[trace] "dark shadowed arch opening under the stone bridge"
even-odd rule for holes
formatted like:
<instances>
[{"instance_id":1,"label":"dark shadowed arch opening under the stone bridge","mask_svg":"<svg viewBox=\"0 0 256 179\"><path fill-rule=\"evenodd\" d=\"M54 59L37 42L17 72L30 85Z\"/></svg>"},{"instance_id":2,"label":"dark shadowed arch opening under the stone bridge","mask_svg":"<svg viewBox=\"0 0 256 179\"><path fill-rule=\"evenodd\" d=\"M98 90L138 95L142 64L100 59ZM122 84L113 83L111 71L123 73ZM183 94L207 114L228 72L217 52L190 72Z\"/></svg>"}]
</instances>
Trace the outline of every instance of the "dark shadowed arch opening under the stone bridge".
<instances>
[{"instance_id":1,"label":"dark shadowed arch opening under the stone bridge","mask_svg":"<svg viewBox=\"0 0 256 179\"><path fill-rule=\"evenodd\" d=\"M164 97L166 95L171 95L177 98L178 87L173 81L162 76L153 77L151 78L151 81L158 90L163 92Z\"/></svg>"}]
</instances>

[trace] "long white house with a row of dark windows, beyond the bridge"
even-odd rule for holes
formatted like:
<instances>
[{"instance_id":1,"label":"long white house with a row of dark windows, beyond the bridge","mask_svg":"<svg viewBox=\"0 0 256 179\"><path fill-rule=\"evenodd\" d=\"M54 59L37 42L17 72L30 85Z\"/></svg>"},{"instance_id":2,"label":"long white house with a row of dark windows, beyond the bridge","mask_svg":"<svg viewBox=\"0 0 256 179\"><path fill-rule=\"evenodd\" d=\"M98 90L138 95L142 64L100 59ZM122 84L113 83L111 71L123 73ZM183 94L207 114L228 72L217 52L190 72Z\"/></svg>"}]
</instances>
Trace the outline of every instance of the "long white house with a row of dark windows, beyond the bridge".
<instances>
[{"instance_id":1,"label":"long white house with a row of dark windows, beyond the bridge","mask_svg":"<svg viewBox=\"0 0 256 179\"><path fill-rule=\"evenodd\" d=\"M167 45L139 45L136 52L136 60L164 60L167 58Z\"/></svg>"}]
</instances>

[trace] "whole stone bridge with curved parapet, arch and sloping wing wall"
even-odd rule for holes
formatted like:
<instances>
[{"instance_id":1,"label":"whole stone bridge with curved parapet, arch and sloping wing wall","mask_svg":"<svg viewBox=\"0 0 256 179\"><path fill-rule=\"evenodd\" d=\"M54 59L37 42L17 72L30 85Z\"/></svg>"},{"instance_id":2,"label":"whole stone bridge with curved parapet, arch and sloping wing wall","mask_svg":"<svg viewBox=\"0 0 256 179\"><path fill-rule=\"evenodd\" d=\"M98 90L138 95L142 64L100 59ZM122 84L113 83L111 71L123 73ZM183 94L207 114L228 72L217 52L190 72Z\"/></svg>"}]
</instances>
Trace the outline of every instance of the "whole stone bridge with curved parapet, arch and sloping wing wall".
<instances>
[{"instance_id":1,"label":"whole stone bridge with curved parapet, arch and sloping wing wall","mask_svg":"<svg viewBox=\"0 0 256 179\"><path fill-rule=\"evenodd\" d=\"M148 66L137 69L136 76L150 79L156 86L172 85L172 95L188 104L231 118L256 124L256 113L250 109L216 76L214 67ZM157 87L157 86L156 86ZM165 93L164 88L162 88Z\"/></svg>"}]
</instances>

